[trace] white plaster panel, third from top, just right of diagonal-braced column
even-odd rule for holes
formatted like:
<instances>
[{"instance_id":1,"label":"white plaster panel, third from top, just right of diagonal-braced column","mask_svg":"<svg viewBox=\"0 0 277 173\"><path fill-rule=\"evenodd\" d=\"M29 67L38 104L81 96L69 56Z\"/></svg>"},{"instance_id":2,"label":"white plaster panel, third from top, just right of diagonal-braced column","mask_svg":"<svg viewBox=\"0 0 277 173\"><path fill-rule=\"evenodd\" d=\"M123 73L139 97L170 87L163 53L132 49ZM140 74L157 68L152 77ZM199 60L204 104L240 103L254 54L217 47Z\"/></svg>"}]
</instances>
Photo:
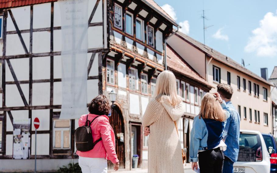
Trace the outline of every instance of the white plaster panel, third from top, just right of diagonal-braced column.
<instances>
[{"instance_id":1,"label":"white plaster panel, third from top, just right of diagonal-braced column","mask_svg":"<svg viewBox=\"0 0 277 173\"><path fill-rule=\"evenodd\" d=\"M33 58L33 80L36 79L50 79L49 56Z\"/></svg>"}]
</instances>

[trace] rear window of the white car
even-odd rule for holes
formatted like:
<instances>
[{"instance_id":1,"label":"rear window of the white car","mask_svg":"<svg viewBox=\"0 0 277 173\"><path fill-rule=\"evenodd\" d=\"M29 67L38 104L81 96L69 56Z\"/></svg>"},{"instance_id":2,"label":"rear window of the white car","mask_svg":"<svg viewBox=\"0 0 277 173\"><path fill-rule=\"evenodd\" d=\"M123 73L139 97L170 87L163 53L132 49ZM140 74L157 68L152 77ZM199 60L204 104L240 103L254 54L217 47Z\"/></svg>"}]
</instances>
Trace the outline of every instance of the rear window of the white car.
<instances>
[{"instance_id":1,"label":"rear window of the white car","mask_svg":"<svg viewBox=\"0 0 277 173\"><path fill-rule=\"evenodd\" d=\"M238 161L262 161L262 147L259 135L240 134L240 150Z\"/></svg>"}]
</instances>

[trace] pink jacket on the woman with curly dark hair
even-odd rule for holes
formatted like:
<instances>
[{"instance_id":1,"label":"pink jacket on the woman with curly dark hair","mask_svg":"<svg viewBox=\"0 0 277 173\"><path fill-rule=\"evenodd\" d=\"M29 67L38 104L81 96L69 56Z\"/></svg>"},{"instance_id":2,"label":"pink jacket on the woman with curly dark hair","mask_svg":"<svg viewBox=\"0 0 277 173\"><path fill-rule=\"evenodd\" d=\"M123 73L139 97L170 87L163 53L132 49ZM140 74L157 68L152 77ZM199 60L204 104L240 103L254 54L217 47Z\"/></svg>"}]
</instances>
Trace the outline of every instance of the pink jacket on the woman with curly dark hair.
<instances>
[{"instance_id":1,"label":"pink jacket on the woman with curly dark hair","mask_svg":"<svg viewBox=\"0 0 277 173\"><path fill-rule=\"evenodd\" d=\"M86 116L82 115L79 119L79 127L85 125ZM88 120L92 121L98 115L89 114ZM106 115L101 115L96 118L90 126L93 137L93 142L102 137L102 140L94 146L90 151L77 151L76 154L81 157L105 158L112 163L117 163L117 155L115 153L115 136L114 130L110 126L109 118Z\"/></svg>"}]
</instances>

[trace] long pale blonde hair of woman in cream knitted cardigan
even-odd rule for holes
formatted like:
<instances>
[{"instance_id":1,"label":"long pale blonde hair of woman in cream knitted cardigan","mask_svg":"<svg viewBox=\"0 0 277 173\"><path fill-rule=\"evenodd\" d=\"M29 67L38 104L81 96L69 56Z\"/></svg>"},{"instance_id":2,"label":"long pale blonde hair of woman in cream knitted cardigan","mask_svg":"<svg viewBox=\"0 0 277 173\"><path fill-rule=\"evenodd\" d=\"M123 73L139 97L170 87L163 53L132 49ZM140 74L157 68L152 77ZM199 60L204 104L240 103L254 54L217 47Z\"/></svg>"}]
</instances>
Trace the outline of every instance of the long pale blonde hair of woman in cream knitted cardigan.
<instances>
[{"instance_id":1,"label":"long pale blonde hair of woman in cream knitted cardigan","mask_svg":"<svg viewBox=\"0 0 277 173\"><path fill-rule=\"evenodd\" d=\"M177 94L176 77L169 70L161 72L156 83L154 98L159 102L163 102L162 97L164 96L167 97L172 106L178 105L182 101L181 97Z\"/></svg>"}]
</instances>

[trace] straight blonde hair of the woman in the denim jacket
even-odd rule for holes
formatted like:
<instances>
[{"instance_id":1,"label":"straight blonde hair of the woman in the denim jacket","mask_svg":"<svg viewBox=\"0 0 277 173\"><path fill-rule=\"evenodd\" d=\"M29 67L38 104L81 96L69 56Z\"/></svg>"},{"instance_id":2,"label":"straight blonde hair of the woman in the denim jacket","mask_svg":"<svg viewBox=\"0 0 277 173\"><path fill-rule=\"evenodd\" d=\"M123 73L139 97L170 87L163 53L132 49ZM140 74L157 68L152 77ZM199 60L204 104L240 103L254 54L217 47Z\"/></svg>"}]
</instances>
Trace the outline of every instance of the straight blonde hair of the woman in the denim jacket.
<instances>
[{"instance_id":1,"label":"straight blonde hair of the woman in the denim jacket","mask_svg":"<svg viewBox=\"0 0 277 173\"><path fill-rule=\"evenodd\" d=\"M215 94L212 93L207 93L202 98L199 115L203 119L214 119L220 122L226 120L225 112L219 101L216 100Z\"/></svg>"}]
</instances>

